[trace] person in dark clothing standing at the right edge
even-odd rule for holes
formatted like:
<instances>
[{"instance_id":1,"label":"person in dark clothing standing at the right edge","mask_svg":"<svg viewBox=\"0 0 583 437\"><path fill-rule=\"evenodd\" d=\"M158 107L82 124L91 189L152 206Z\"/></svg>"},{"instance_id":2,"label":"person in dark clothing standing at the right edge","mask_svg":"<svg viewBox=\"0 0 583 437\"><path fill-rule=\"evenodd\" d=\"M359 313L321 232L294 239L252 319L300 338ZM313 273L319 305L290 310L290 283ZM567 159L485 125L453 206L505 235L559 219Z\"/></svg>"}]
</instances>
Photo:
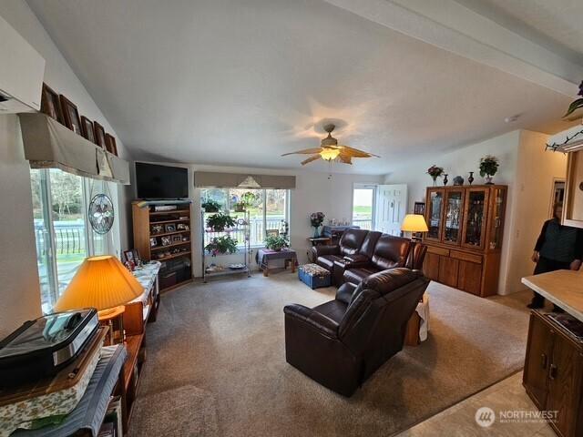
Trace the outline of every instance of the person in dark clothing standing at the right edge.
<instances>
[{"instance_id":1,"label":"person in dark clothing standing at the right edge","mask_svg":"<svg viewBox=\"0 0 583 437\"><path fill-rule=\"evenodd\" d=\"M555 204L553 218L543 225L531 259L537 263L535 275L561 269L578 270L583 259L583 229L561 225L563 207ZM527 305L531 309L545 306L545 298L536 291ZM555 306L557 310L557 306Z\"/></svg>"}]
</instances>

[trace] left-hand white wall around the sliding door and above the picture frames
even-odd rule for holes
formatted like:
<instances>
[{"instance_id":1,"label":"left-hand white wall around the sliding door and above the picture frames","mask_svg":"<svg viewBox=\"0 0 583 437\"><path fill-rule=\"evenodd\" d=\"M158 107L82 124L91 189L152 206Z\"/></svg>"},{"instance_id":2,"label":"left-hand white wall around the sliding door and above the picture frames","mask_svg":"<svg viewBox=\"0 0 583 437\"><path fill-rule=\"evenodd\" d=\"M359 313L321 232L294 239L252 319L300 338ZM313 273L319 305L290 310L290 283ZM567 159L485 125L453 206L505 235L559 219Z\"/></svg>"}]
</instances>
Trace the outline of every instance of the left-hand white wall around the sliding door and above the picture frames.
<instances>
[{"instance_id":1,"label":"left-hand white wall around the sliding door and above the picture frames","mask_svg":"<svg viewBox=\"0 0 583 437\"><path fill-rule=\"evenodd\" d=\"M46 59L45 82L73 101L81 115L98 120L117 137L28 5L22 0L0 2L0 15ZM120 156L127 158L123 144L117 142ZM0 242L5 248L0 251L1 338L41 314L30 171L15 115L0 117L0 187ZM127 192L118 193L118 211L124 212L119 214L121 235L127 234Z\"/></svg>"}]
</instances>

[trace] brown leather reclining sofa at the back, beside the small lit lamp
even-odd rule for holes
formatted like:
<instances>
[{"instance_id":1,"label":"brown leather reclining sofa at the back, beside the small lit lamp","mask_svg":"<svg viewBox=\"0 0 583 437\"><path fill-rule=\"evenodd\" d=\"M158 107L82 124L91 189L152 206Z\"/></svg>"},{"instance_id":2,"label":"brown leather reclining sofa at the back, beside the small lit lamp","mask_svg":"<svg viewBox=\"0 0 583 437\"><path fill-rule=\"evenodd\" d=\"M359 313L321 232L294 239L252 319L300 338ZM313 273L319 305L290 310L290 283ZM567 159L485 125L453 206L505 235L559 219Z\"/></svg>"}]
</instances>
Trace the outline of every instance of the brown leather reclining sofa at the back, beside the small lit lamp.
<instances>
[{"instance_id":1,"label":"brown leather reclining sofa at the back, beside the small lit lamp","mask_svg":"<svg viewBox=\"0 0 583 437\"><path fill-rule=\"evenodd\" d=\"M420 245L415 249L417 247ZM415 253L410 251L410 239L373 230L348 229L338 246L313 247L312 257L332 273L332 282L339 287L344 282L359 284L364 278L385 269L417 268L418 257L414 259L414 255L421 255L423 249L417 249Z\"/></svg>"}]
</instances>

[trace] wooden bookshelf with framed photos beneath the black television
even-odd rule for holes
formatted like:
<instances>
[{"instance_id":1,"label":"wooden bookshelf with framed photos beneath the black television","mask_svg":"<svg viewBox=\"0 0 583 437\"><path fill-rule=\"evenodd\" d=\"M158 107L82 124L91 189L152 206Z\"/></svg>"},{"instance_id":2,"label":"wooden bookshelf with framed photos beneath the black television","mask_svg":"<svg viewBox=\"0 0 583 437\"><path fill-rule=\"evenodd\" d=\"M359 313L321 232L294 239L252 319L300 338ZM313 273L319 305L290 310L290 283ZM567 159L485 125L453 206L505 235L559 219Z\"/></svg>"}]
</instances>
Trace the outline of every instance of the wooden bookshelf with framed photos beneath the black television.
<instances>
[{"instance_id":1,"label":"wooden bookshelf with framed photos beneath the black television","mask_svg":"<svg viewBox=\"0 0 583 437\"><path fill-rule=\"evenodd\" d=\"M175 207L159 210L164 207ZM160 290L170 290L192 280L192 226L189 200L135 201L132 203L134 247L142 259L162 263ZM179 229L186 225L188 229ZM173 240L180 239L188 240ZM155 245L152 246L152 242ZM184 250L187 249L187 250ZM180 267L183 259L183 267Z\"/></svg>"}]
</instances>

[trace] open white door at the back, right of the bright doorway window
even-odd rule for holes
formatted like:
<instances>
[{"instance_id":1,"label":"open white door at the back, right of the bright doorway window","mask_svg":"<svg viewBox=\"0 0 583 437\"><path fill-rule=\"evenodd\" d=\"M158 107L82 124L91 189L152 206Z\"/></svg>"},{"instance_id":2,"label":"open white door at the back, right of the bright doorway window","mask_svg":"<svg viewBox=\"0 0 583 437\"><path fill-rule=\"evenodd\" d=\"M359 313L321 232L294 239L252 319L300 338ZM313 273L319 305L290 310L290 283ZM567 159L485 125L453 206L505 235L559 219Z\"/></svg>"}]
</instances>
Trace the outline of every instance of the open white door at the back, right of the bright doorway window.
<instances>
[{"instance_id":1,"label":"open white door at the back, right of the bright doorway window","mask_svg":"<svg viewBox=\"0 0 583 437\"><path fill-rule=\"evenodd\" d=\"M375 229L389 235L401 235L401 223L407 211L407 186L379 185L376 190Z\"/></svg>"}]
</instances>

